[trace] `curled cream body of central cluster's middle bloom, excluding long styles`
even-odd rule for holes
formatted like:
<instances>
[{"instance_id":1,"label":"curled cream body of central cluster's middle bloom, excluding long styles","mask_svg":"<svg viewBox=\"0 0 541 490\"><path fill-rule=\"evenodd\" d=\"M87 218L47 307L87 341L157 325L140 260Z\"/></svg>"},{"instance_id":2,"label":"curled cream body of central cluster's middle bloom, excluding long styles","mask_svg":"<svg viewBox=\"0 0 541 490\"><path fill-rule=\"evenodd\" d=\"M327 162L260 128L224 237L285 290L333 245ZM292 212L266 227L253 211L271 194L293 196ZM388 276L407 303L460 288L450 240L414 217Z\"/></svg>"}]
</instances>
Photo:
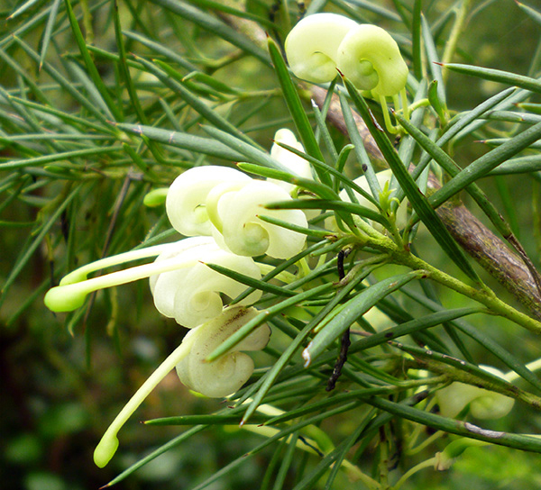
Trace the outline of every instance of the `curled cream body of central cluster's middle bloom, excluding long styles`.
<instances>
[{"instance_id":1,"label":"curled cream body of central cluster's middle bloom, excluding long styles","mask_svg":"<svg viewBox=\"0 0 541 490\"><path fill-rule=\"evenodd\" d=\"M175 260L185 267L151 277L151 293L161 314L187 328L194 328L219 314L224 306L221 294L234 298L246 288L231 277L207 268L205 263L261 278L260 268L251 258L220 249L212 237L181 240L179 250L168 250L155 263ZM252 304L260 297L261 291L254 291L241 304Z\"/></svg>"}]
</instances>

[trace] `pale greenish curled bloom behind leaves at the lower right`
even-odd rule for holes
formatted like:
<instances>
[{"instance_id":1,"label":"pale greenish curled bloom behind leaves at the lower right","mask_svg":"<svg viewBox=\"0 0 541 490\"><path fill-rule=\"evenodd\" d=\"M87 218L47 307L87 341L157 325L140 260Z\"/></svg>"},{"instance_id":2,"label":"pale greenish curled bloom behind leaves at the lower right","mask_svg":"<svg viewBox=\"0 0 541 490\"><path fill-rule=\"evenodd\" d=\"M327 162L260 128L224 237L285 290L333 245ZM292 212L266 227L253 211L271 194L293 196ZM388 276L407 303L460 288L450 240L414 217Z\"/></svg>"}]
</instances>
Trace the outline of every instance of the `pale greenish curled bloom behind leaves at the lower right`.
<instances>
[{"instance_id":1,"label":"pale greenish curled bloom behind leaves at the lower right","mask_svg":"<svg viewBox=\"0 0 541 490\"><path fill-rule=\"evenodd\" d=\"M504 377L500 370L490 366L480 366L492 374ZM456 417L470 404L470 413L477 419L500 419L507 415L515 400L509 396L494 393L477 386L454 382L436 392L440 412L445 417Z\"/></svg>"}]
</instances>

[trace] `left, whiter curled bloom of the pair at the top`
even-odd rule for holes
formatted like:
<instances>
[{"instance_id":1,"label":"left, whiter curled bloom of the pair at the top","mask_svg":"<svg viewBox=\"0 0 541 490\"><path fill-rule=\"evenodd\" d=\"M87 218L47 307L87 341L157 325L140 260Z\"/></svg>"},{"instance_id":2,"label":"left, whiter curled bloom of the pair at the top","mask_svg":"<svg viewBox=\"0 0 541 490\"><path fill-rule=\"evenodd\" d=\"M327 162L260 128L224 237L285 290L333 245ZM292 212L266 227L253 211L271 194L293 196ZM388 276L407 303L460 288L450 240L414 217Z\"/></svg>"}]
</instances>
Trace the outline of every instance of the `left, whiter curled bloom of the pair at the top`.
<instances>
[{"instance_id":1,"label":"left, whiter curled bloom of the pair at the top","mask_svg":"<svg viewBox=\"0 0 541 490\"><path fill-rule=\"evenodd\" d=\"M313 14L302 19L289 32L285 44L289 67L296 77L315 83L335 78L338 47L357 25L339 14Z\"/></svg>"}]
</instances>

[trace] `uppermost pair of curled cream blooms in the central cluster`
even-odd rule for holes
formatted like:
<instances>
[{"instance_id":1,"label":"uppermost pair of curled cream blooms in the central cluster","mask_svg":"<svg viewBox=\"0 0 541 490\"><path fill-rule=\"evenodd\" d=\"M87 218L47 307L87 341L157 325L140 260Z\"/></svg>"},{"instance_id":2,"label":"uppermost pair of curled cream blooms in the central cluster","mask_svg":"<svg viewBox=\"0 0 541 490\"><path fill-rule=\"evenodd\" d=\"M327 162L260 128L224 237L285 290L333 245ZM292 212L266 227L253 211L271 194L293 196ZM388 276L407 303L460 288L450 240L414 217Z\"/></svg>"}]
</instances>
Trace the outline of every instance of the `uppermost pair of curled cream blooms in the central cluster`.
<instances>
[{"instance_id":1,"label":"uppermost pair of curled cream blooms in the central cluster","mask_svg":"<svg viewBox=\"0 0 541 490\"><path fill-rule=\"evenodd\" d=\"M307 227L307 218L300 210L264 208L264 204L290 200L288 191L238 170L224 170L215 166L190 168L177 177L166 202L175 229L183 234L197 230L197 234L211 233L220 247L235 255L267 253L276 259L289 259L301 251L305 235L258 218L265 214Z\"/></svg>"}]
</instances>

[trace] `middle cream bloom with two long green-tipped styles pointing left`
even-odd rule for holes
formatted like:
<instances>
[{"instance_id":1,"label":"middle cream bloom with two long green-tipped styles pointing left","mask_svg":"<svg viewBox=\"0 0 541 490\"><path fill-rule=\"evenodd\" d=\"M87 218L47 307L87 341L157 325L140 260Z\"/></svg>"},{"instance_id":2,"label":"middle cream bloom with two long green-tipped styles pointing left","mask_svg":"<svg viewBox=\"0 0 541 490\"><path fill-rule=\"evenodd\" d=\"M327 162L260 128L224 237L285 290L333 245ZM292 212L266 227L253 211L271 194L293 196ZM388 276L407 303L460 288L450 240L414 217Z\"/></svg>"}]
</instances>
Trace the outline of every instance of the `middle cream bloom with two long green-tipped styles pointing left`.
<instances>
[{"instance_id":1,"label":"middle cream bloom with two long green-tipped styles pointing left","mask_svg":"<svg viewBox=\"0 0 541 490\"><path fill-rule=\"evenodd\" d=\"M152 256L158 258L150 264L87 279L89 273L100 268ZM160 313L193 328L222 311L221 294L235 297L246 288L234 279L207 268L205 263L230 268L255 279L261 278L260 268L251 258L222 250L212 237L191 237L133 250L79 268L65 277L60 286L50 289L45 295L45 304L54 312L70 312L82 306L93 291L150 277L154 304ZM241 304L252 304L260 297L261 291L254 291Z\"/></svg>"}]
</instances>

